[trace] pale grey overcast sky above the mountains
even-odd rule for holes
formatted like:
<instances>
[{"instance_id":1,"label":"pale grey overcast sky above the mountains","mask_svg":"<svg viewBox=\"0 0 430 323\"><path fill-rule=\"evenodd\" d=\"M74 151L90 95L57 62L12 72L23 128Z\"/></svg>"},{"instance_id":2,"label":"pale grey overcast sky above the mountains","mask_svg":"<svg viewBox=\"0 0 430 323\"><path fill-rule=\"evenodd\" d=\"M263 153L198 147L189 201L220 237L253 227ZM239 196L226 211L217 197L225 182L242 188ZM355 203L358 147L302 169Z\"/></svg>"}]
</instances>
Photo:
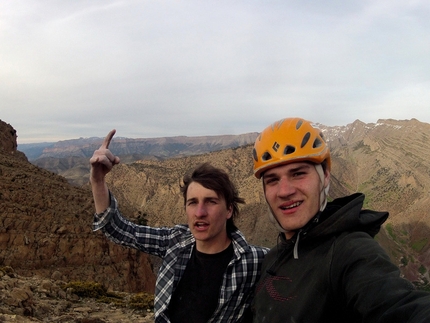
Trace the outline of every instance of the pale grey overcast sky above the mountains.
<instances>
[{"instance_id":1,"label":"pale grey overcast sky above the mountains","mask_svg":"<svg viewBox=\"0 0 430 323\"><path fill-rule=\"evenodd\" d=\"M3 0L19 143L430 123L428 0Z\"/></svg>"}]
</instances>

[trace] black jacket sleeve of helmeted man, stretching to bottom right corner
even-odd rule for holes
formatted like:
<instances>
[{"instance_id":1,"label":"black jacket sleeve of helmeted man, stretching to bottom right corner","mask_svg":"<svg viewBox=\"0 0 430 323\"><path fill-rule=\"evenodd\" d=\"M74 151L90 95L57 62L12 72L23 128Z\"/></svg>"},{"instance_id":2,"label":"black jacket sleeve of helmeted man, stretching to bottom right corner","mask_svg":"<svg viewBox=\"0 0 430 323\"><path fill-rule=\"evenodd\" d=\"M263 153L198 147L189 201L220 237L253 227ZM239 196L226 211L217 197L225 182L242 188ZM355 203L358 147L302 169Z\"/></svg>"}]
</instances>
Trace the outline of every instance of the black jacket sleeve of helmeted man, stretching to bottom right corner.
<instances>
[{"instance_id":1,"label":"black jacket sleeve of helmeted man, stretching to bottom right corner","mask_svg":"<svg viewBox=\"0 0 430 323\"><path fill-rule=\"evenodd\" d=\"M333 295L340 295L363 322L430 322L430 293L401 278L399 268L368 234L343 234L332 260Z\"/></svg>"}]
</instances>

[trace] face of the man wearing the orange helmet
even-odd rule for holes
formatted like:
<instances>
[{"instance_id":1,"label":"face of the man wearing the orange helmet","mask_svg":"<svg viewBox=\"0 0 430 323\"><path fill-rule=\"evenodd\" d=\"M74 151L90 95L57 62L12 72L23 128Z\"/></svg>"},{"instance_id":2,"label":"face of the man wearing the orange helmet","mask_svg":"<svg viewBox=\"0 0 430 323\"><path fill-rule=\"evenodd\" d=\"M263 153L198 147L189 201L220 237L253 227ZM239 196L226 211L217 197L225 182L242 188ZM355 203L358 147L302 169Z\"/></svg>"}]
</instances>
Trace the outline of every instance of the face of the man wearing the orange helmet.
<instances>
[{"instance_id":1,"label":"face of the man wearing the orange helmet","mask_svg":"<svg viewBox=\"0 0 430 323\"><path fill-rule=\"evenodd\" d=\"M326 172L324 185L328 184ZM266 201L279 224L287 231L295 231L309 222L320 208L323 189L315 166L306 162L281 165L263 175ZM294 232L287 232L287 239Z\"/></svg>"}]
</instances>

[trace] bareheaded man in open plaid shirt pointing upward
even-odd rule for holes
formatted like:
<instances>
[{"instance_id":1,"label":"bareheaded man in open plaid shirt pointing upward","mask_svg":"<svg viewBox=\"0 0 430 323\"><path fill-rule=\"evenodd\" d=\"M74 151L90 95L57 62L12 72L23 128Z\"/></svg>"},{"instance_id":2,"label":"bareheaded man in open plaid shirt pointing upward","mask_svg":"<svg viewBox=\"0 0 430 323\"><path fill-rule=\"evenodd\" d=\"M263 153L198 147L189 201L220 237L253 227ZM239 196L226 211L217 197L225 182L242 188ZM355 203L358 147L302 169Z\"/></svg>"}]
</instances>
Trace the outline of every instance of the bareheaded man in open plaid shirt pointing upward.
<instances>
[{"instance_id":1,"label":"bareheaded man in open plaid shirt pointing upward","mask_svg":"<svg viewBox=\"0 0 430 323\"><path fill-rule=\"evenodd\" d=\"M246 322L268 249L249 245L234 225L244 200L228 175L203 164L184 177L187 225L153 228L125 219L105 182L119 163L109 150L115 130L90 159L94 231L163 259L155 288L155 322Z\"/></svg>"}]
</instances>

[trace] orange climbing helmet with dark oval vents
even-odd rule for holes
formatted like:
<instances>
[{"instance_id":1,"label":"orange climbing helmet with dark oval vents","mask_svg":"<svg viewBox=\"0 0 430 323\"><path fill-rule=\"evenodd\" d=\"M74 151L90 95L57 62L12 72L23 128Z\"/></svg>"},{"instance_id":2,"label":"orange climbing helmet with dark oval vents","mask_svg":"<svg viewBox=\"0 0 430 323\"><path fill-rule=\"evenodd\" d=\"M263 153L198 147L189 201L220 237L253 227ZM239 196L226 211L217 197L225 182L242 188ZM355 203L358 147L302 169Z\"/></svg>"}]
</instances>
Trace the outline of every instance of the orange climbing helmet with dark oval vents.
<instances>
[{"instance_id":1,"label":"orange climbing helmet with dark oval vents","mask_svg":"<svg viewBox=\"0 0 430 323\"><path fill-rule=\"evenodd\" d=\"M254 175L290 162L326 162L330 170L330 150L321 130L301 118L287 118L272 123L255 140L253 149Z\"/></svg>"}]
</instances>

